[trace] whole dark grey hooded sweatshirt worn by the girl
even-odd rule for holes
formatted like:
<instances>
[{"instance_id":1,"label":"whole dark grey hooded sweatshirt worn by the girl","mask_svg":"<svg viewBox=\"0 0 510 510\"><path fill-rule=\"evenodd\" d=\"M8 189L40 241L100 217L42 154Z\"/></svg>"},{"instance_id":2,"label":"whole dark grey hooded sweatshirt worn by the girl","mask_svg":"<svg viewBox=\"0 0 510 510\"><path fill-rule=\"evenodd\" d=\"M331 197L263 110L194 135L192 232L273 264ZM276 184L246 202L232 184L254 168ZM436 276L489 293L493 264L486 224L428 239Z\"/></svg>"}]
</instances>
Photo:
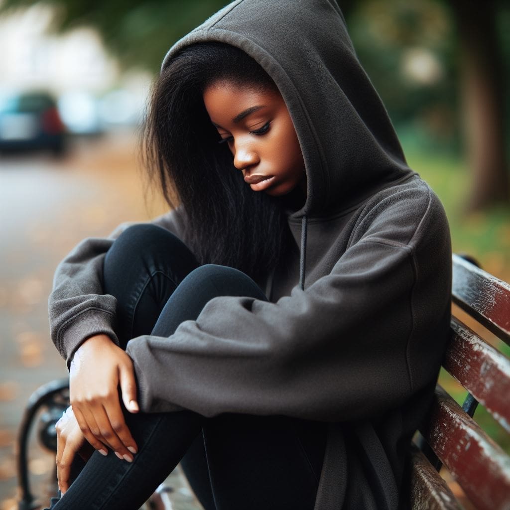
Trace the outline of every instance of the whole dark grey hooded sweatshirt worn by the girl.
<instances>
[{"instance_id":1,"label":"whole dark grey hooded sweatshirt worn by the girl","mask_svg":"<svg viewBox=\"0 0 510 510\"><path fill-rule=\"evenodd\" d=\"M289 215L300 248L268 275L269 302L214 298L171 337L129 342L141 408L329 422L316 509L405 508L405 454L449 330L444 210L407 166L335 0L237 0L163 67L205 41L242 48L286 101L308 182ZM182 237L186 219L177 210L154 222ZM101 278L119 232L83 241L57 269L50 326L68 362L91 335L117 341Z\"/></svg>"}]
</instances>

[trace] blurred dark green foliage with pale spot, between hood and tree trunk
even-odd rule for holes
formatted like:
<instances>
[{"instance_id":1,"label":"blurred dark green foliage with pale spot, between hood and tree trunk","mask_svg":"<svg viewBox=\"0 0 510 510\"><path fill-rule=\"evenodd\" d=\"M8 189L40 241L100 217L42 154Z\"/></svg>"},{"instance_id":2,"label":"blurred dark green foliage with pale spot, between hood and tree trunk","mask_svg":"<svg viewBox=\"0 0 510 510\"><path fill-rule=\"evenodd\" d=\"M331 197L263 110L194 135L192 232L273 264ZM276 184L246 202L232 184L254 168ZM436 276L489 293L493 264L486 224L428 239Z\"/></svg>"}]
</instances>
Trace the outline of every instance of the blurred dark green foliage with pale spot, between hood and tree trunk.
<instances>
[{"instance_id":1,"label":"blurred dark green foliage with pale spot, between hood and tree trunk","mask_svg":"<svg viewBox=\"0 0 510 510\"><path fill-rule=\"evenodd\" d=\"M457 149L457 48L443 4L365 0L348 22L358 57L393 122L413 121L429 142Z\"/></svg>"}]
</instances>

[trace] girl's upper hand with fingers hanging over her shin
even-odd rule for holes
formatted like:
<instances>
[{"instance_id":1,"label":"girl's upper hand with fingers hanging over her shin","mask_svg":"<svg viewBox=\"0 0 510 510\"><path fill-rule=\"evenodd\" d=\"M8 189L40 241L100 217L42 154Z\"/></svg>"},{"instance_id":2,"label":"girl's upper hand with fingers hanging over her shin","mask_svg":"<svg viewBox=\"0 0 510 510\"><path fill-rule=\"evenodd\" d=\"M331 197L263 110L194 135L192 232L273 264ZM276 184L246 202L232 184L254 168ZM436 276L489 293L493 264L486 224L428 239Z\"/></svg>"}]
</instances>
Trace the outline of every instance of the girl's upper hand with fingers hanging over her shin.
<instances>
[{"instance_id":1,"label":"girl's upper hand with fingers hanging over her shin","mask_svg":"<svg viewBox=\"0 0 510 510\"><path fill-rule=\"evenodd\" d=\"M69 387L74 416L94 448L98 450L103 443L120 459L132 462L137 445L122 414L119 386L126 409L137 413L131 358L107 335L90 337L71 361Z\"/></svg>"}]
</instances>

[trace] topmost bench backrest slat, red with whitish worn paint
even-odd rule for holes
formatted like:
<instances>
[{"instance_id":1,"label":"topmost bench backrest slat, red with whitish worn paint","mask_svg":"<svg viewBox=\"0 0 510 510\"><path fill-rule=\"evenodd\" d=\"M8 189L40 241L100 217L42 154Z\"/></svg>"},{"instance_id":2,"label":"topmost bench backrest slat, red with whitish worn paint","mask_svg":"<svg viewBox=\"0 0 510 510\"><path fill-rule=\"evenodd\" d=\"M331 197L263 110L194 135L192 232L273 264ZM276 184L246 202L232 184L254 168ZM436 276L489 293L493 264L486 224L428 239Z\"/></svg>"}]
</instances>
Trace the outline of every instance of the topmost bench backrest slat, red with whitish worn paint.
<instances>
[{"instance_id":1,"label":"topmost bench backrest slat, red with whitish worn paint","mask_svg":"<svg viewBox=\"0 0 510 510\"><path fill-rule=\"evenodd\" d=\"M452 299L510 345L510 285L453 254Z\"/></svg>"}]
</instances>

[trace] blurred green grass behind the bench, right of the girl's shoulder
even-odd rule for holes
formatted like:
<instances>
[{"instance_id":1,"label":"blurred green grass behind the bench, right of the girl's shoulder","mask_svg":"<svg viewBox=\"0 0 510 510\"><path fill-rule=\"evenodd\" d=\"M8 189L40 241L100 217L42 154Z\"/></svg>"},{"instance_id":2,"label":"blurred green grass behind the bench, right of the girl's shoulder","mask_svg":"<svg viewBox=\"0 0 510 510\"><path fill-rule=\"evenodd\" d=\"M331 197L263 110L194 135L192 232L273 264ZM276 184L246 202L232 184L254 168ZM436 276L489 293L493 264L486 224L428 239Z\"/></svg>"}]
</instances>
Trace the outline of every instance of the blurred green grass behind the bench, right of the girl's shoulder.
<instances>
[{"instance_id":1,"label":"blurred green grass behind the bench, right of the girl's shoulder","mask_svg":"<svg viewBox=\"0 0 510 510\"><path fill-rule=\"evenodd\" d=\"M460 159L432 151L425 154L413 147L406 151L406 157L410 166L420 173L443 202L450 223L453 251L470 254L484 270L510 282L510 204L466 213L470 179L466 165ZM510 357L510 347L494 335L484 328L477 328L476 332ZM462 405L466 390L444 369L439 379ZM488 436L510 454L510 435L487 410L479 405L474 418Z\"/></svg>"}]
</instances>

